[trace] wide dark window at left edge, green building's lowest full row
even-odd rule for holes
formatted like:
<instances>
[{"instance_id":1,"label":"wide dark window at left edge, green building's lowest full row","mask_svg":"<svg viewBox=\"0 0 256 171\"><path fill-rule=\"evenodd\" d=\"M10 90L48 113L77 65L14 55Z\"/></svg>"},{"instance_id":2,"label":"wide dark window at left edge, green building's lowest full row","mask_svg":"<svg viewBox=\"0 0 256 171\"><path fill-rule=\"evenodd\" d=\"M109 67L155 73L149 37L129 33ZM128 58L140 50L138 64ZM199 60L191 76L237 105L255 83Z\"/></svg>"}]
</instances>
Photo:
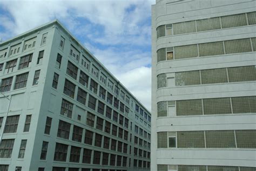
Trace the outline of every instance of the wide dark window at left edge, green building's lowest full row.
<instances>
[{"instance_id":1,"label":"wide dark window at left edge, green building's lowest full row","mask_svg":"<svg viewBox=\"0 0 256 171\"><path fill-rule=\"evenodd\" d=\"M12 148L14 148L14 139L2 140L0 144L0 158L11 158Z\"/></svg>"}]
</instances>

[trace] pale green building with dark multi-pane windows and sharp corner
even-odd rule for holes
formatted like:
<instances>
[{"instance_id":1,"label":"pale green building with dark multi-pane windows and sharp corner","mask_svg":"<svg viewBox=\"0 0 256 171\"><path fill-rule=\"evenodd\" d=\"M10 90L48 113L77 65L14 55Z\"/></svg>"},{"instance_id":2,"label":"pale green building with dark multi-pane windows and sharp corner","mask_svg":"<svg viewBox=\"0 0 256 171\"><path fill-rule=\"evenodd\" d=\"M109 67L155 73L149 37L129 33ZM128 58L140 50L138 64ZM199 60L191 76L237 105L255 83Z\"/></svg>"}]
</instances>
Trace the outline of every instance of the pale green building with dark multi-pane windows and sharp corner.
<instances>
[{"instance_id":1,"label":"pale green building with dark multi-pane windows and sharp corner","mask_svg":"<svg viewBox=\"0 0 256 171\"><path fill-rule=\"evenodd\" d=\"M150 112L57 20L0 44L0 80L1 171L150 170Z\"/></svg>"}]
</instances>

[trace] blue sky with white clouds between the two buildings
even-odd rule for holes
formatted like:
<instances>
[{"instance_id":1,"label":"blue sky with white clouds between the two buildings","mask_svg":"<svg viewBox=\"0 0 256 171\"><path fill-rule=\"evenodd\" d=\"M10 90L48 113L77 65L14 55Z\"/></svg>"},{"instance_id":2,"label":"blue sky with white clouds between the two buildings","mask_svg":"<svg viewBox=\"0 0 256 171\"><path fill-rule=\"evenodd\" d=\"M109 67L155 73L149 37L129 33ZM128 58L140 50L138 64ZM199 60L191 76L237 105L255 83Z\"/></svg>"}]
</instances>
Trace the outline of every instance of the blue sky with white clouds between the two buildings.
<instances>
[{"instance_id":1,"label":"blue sky with white clouds between the two buildings","mask_svg":"<svg viewBox=\"0 0 256 171\"><path fill-rule=\"evenodd\" d=\"M2 42L58 19L151 111L151 5L155 0L0 0Z\"/></svg>"}]
</instances>

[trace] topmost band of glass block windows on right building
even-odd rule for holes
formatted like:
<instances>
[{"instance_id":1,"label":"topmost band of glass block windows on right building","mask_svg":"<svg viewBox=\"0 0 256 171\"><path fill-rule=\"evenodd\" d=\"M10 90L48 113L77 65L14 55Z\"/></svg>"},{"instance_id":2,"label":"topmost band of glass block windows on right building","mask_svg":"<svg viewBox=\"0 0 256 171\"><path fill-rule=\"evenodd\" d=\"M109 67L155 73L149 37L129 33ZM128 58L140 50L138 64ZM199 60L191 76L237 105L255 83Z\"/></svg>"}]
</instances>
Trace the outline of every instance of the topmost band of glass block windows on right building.
<instances>
[{"instance_id":1,"label":"topmost band of glass block windows on right building","mask_svg":"<svg viewBox=\"0 0 256 171\"><path fill-rule=\"evenodd\" d=\"M160 25L157 28L157 38L163 36L180 35L193 32L210 31L253 25L256 12L239 13L230 16L190 20L188 22Z\"/></svg>"}]
</instances>

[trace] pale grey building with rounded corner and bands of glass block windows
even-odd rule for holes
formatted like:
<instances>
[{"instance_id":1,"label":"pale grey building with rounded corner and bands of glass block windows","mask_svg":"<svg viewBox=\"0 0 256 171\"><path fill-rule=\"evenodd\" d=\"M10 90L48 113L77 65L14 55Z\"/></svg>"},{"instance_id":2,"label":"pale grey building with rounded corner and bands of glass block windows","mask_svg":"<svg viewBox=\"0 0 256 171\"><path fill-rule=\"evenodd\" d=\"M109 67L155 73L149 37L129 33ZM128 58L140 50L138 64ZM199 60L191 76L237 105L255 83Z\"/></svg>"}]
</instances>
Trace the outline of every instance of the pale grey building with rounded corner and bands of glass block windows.
<instances>
[{"instance_id":1,"label":"pale grey building with rounded corner and bands of glass block windows","mask_svg":"<svg viewBox=\"0 0 256 171\"><path fill-rule=\"evenodd\" d=\"M256 1L152 6L151 170L256 170Z\"/></svg>"}]
</instances>

